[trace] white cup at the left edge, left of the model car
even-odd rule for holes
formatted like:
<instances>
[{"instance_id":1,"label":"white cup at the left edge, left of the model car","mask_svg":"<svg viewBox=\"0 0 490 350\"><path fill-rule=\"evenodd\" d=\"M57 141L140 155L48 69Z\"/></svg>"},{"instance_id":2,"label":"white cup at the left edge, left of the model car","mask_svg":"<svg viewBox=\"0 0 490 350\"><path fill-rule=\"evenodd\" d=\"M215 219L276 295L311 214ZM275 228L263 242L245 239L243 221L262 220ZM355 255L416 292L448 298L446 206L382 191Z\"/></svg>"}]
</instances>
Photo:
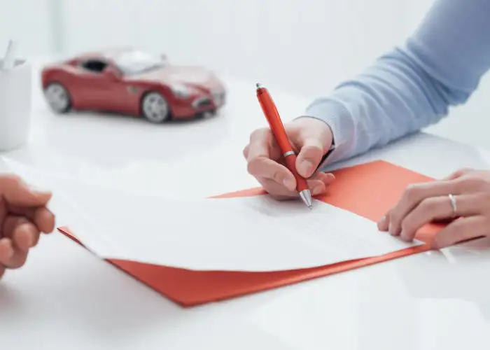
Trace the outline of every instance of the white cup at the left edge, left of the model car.
<instances>
[{"instance_id":1,"label":"white cup at the left edge, left of the model car","mask_svg":"<svg viewBox=\"0 0 490 350\"><path fill-rule=\"evenodd\" d=\"M31 128L31 90L29 62L16 59L12 69L0 69L0 151L12 151L27 143Z\"/></svg>"}]
</instances>

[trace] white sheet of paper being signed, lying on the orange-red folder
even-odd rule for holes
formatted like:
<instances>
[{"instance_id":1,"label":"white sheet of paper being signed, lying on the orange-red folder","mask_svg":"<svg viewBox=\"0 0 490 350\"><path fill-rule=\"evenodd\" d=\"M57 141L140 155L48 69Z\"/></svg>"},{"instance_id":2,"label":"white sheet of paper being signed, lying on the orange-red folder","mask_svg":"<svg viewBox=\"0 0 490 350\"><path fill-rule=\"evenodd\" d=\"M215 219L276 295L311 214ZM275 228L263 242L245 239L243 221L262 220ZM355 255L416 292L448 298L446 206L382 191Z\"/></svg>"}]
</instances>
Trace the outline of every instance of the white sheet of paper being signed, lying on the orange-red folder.
<instances>
[{"instance_id":1,"label":"white sheet of paper being signed, lying on the orange-red folder","mask_svg":"<svg viewBox=\"0 0 490 350\"><path fill-rule=\"evenodd\" d=\"M269 196L173 200L6 163L27 181L49 186L57 199L52 210L69 218L62 225L104 258L265 272L317 267L421 244L378 232L372 221L318 201L309 210L300 201L277 202Z\"/></svg>"}]
</instances>

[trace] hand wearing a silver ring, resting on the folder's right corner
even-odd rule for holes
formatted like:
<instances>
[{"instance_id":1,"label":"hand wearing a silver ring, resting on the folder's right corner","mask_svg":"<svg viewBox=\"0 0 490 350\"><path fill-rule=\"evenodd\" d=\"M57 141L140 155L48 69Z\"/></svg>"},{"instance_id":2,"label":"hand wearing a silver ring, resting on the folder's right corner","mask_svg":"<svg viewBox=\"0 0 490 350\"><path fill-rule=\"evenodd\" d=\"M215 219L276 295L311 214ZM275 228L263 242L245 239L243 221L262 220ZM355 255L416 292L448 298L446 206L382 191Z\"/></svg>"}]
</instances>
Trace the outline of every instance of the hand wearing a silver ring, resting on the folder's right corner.
<instances>
[{"instance_id":1,"label":"hand wearing a silver ring, resting on the folder's right corner","mask_svg":"<svg viewBox=\"0 0 490 350\"><path fill-rule=\"evenodd\" d=\"M458 217L437 233L433 248L490 236L490 171L461 169L440 181L408 186L378 228L412 241L423 225Z\"/></svg>"}]
</instances>

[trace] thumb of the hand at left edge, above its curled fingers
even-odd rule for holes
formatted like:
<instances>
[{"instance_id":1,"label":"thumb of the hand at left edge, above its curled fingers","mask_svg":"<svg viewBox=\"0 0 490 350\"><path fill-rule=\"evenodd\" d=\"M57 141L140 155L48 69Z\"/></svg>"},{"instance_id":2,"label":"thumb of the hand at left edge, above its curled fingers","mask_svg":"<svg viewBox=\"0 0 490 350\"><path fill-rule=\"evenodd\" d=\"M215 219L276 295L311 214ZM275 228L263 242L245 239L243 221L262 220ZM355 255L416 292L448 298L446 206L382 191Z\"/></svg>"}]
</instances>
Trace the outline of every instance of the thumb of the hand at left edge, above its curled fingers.
<instances>
[{"instance_id":1,"label":"thumb of the hand at left edge, above its curled fingers","mask_svg":"<svg viewBox=\"0 0 490 350\"><path fill-rule=\"evenodd\" d=\"M48 204L51 193L31 190L19 176L0 176L0 195L19 207L40 207Z\"/></svg>"}]
</instances>

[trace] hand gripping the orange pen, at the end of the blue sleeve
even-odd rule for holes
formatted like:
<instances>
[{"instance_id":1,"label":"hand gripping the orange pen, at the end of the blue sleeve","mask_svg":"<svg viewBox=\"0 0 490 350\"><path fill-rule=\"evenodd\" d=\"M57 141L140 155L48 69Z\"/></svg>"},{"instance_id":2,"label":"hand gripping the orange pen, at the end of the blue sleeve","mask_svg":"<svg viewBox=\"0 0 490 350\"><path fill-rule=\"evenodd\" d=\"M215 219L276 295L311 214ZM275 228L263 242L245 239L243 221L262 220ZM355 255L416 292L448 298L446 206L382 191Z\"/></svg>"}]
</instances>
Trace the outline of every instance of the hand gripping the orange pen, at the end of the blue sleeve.
<instances>
[{"instance_id":1,"label":"hand gripping the orange pen, at the end of the blue sleeve","mask_svg":"<svg viewBox=\"0 0 490 350\"><path fill-rule=\"evenodd\" d=\"M261 89L258 89L258 92L267 92ZM260 95L258 98L261 99ZM274 104L272 99L270 102ZM271 108L266 106L266 111L269 110ZM279 118L275 106L272 111ZM269 127L252 132L250 141L244 148L248 172L258 180L267 193L277 200L298 197L298 190L302 188L297 186L297 176L306 179L311 195L322 195L326 187L335 179L332 174L316 170L332 145L330 127L321 120L305 117L284 124L283 131L287 135L292 150L296 151L297 159L294 162L295 168L292 167L293 171L288 169L287 158L283 157L285 152L281 151L269 125ZM287 148L287 145L285 147ZM293 165L290 164L290 166Z\"/></svg>"}]
</instances>

